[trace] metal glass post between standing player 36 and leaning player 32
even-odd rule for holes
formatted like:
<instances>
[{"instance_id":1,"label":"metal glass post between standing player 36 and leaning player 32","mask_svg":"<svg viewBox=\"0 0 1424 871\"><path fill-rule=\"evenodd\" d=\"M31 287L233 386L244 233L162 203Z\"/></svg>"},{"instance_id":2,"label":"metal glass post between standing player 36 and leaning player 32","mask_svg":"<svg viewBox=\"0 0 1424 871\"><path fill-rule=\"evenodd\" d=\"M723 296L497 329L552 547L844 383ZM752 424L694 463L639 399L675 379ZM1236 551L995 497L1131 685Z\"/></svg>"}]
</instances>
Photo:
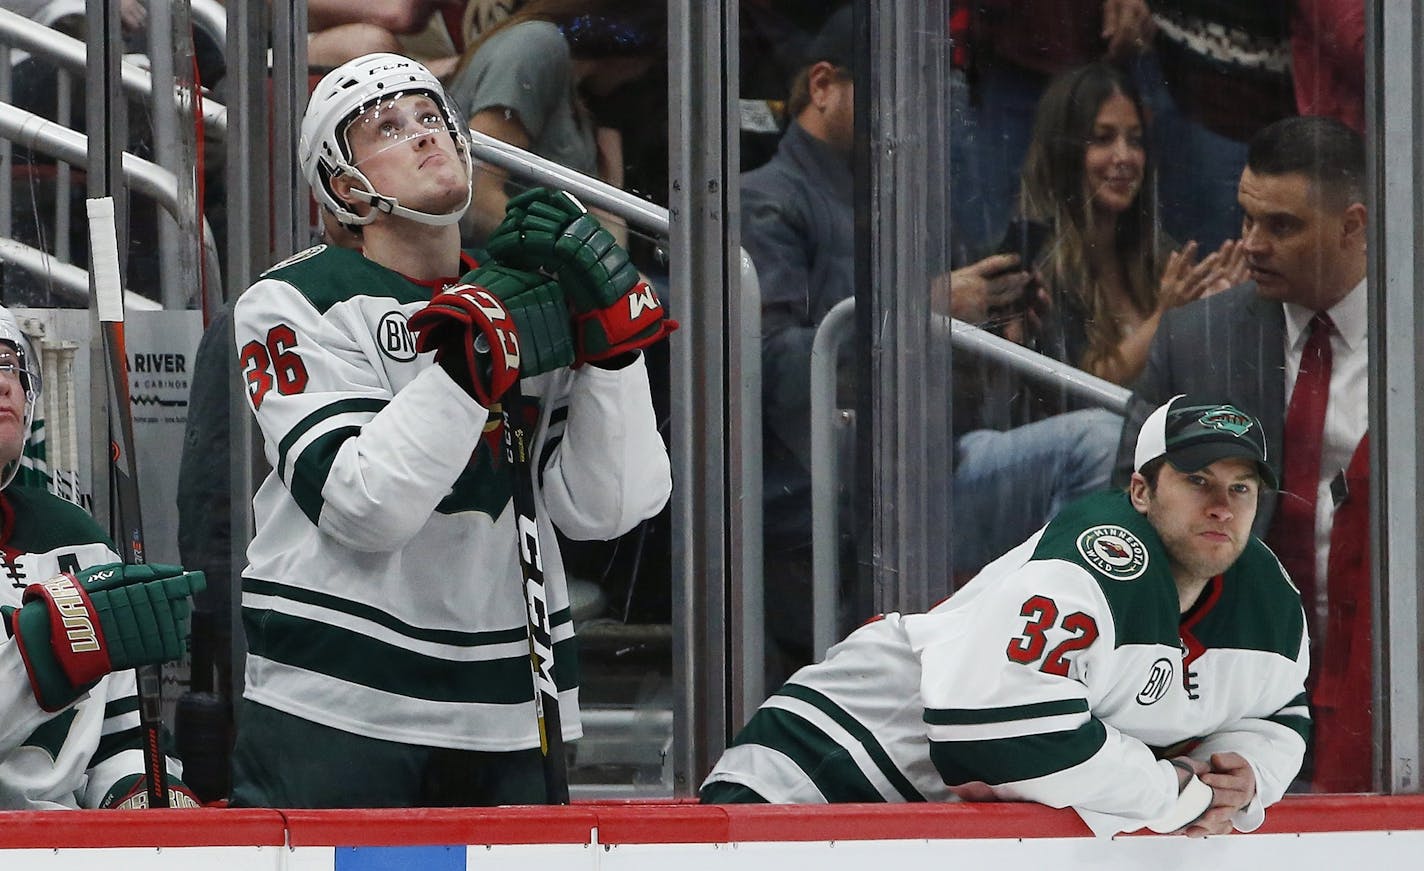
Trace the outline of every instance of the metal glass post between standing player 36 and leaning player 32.
<instances>
[{"instance_id":1,"label":"metal glass post between standing player 36 and leaning player 32","mask_svg":"<svg viewBox=\"0 0 1424 871\"><path fill-rule=\"evenodd\" d=\"M693 793L728 741L729 300L740 268L735 196L735 3L669 0L674 790Z\"/></svg>"}]
</instances>

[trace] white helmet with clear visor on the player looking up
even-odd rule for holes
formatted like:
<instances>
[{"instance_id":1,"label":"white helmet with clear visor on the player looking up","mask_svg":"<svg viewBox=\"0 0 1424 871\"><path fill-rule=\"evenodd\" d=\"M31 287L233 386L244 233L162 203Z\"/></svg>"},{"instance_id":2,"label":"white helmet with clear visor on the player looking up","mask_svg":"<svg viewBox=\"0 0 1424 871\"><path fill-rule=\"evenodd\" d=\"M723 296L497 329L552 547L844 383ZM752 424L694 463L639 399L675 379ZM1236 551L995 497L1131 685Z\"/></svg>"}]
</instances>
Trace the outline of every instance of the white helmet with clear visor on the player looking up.
<instances>
[{"instance_id":1,"label":"white helmet with clear visor on the player looking up","mask_svg":"<svg viewBox=\"0 0 1424 871\"><path fill-rule=\"evenodd\" d=\"M444 115L446 128L454 139L454 147L464 159L464 202L453 212L437 215L403 206L394 196L376 191L370 179L353 162L350 142L346 138L352 121L383 101L392 101L406 94L426 94L436 101ZM366 54L328 73L308 100L296 155L302 164L302 175L312 185L316 201L346 225L370 223L376 219L377 211L433 226L450 225L460 221L460 216L470 208L470 198L474 192L474 167L470 159L470 135L464 118L456 111L440 80L430 70L399 54ZM330 182L337 175L350 176L356 182L352 192L373 206L370 212L365 216L357 215L347 202L336 196Z\"/></svg>"}]
</instances>

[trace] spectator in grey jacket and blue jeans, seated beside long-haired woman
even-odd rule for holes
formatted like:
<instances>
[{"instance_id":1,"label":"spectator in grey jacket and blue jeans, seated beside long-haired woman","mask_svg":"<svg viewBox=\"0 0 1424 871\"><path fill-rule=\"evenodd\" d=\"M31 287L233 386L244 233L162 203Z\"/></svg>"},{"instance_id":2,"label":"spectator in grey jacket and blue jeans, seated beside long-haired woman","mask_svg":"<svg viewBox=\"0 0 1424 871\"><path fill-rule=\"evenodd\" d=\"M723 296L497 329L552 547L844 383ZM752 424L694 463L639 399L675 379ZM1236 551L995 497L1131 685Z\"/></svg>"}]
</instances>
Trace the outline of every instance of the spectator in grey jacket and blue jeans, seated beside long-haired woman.
<instances>
[{"instance_id":1,"label":"spectator in grey jacket and blue jeans, seated beside long-haired woman","mask_svg":"<svg viewBox=\"0 0 1424 871\"><path fill-rule=\"evenodd\" d=\"M810 659L812 340L826 313L854 295L853 104L846 7L807 50L792 84L793 122L776 155L742 178L742 245L762 287L768 625L770 653L786 669ZM1030 279L1015 265L1012 256L990 258L951 273L940 305L975 322L988 309L1011 306ZM931 292L938 296L944 283L936 282ZM957 427L965 423L954 420ZM957 568L983 565L1030 535L1067 498L1105 485L1118 420L1081 411L1011 431L960 436Z\"/></svg>"}]
</instances>

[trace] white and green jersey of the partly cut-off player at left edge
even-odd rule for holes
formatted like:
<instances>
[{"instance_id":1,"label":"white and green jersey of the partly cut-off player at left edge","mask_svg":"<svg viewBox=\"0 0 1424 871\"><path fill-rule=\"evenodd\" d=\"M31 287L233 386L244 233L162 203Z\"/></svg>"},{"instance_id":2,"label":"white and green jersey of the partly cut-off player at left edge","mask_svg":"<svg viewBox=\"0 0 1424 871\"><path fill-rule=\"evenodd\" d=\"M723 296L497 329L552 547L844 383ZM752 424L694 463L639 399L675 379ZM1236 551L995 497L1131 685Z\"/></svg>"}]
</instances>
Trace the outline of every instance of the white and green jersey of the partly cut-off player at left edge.
<instances>
[{"instance_id":1,"label":"white and green jersey of the partly cut-off player at left edge","mask_svg":"<svg viewBox=\"0 0 1424 871\"><path fill-rule=\"evenodd\" d=\"M0 494L0 605L19 608L26 586L60 572L118 561L77 505L16 485ZM138 736L132 670L104 677L51 713L34 700L14 640L0 640L0 810L100 807L120 780L142 773ZM175 761L168 767L181 776Z\"/></svg>"}]
</instances>

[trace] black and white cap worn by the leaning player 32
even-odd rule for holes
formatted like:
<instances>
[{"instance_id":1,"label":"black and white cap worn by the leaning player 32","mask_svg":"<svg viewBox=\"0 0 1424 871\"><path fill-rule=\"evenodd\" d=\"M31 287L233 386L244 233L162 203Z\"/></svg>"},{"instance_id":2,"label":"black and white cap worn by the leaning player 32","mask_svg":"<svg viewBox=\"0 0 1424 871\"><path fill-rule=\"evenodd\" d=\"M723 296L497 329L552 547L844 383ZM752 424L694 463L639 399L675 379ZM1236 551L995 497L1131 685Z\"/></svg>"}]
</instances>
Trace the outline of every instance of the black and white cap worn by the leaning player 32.
<instances>
[{"instance_id":1,"label":"black and white cap worn by the leaning player 32","mask_svg":"<svg viewBox=\"0 0 1424 871\"><path fill-rule=\"evenodd\" d=\"M1178 394L1148 416L1138 433L1132 468L1166 457L1173 468L1193 473L1218 460L1253 460L1262 484L1276 490L1276 470L1266 457L1266 431L1253 414L1215 397Z\"/></svg>"}]
</instances>

